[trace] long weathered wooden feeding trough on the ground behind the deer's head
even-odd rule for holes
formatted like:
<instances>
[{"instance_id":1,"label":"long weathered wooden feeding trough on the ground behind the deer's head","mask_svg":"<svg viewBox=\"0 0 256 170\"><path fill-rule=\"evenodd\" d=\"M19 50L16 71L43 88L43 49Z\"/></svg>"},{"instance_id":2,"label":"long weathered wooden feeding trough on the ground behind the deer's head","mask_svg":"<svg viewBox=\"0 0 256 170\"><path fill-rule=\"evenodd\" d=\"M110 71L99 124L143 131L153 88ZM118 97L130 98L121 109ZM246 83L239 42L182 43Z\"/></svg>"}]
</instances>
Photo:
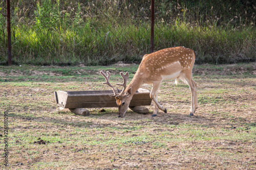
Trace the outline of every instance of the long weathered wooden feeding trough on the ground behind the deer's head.
<instances>
[{"instance_id":1,"label":"long weathered wooden feeding trough on the ground behind the deer's head","mask_svg":"<svg viewBox=\"0 0 256 170\"><path fill-rule=\"evenodd\" d=\"M112 90L99 91L55 91L55 99L60 109L68 108L78 115L89 115L87 109L117 107L116 99L111 97ZM140 88L134 95L129 108L138 113L147 113L148 109L141 106L151 105L150 91Z\"/></svg>"}]
</instances>

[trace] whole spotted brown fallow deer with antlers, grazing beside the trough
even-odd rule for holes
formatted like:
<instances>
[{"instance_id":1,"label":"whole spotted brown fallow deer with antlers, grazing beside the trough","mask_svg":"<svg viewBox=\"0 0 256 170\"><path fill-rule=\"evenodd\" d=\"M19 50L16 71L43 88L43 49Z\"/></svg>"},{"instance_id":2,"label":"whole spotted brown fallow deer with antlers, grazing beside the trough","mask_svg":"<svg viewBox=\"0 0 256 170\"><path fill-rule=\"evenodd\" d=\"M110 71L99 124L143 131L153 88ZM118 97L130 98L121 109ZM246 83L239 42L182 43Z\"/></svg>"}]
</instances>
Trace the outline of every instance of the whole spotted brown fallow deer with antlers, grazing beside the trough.
<instances>
[{"instance_id":1,"label":"whole spotted brown fallow deer with antlers, grazing beside the trough","mask_svg":"<svg viewBox=\"0 0 256 170\"><path fill-rule=\"evenodd\" d=\"M122 91L118 89L116 91L110 84L109 71L107 71L108 76L106 76L104 72L100 71L100 73L106 79L106 82L103 84L109 85L114 92L114 95L111 96L115 97L116 99L118 106L118 117L124 116L134 93L143 84L153 85L150 92L150 97L155 102L155 110L152 116L157 115L158 109L167 113L166 108L162 107L157 101L157 89L163 80L174 79L176 79L176 85L178 80L181 79L189 86L191 92L191 109L189 115L194 115L196 109L198 108L197 83L191 78L195 58L195 52L183 46L165 48L151 54L146 54L144 55L133 80L127 86L127 88L126 82L129 74L126 72L124 75L123 72L120 72L120 75L123 78L123 84L116 85L123 86Z\"/></svg>"}]
</instances>

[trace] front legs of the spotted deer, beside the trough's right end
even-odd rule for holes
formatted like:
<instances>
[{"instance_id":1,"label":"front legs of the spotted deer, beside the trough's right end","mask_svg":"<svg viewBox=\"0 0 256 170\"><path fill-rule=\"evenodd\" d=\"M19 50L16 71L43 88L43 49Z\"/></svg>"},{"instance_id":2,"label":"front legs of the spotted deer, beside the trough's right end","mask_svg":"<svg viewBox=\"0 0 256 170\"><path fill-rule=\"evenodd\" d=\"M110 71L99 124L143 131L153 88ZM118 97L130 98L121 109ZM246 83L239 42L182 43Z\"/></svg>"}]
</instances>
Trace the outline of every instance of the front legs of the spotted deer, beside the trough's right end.
<instances>
[{"instance_id":1,"label":"front legs of the spotted deer, beside the trough's right end","mask_svg":"<svg viewBox=\"0 0 256 170\"><path fill-rule=\"evenodd\" d=\"M165 113L167 113L166 108L164 108L163 106L161 106L158 101L157 101L157 89L159 87L159 85L161 84L161 81L156 81L153 82L153 88L150 92L150 98L155 102L155 110L152 116L156 116L158 109L164 111Z\"/></svg>"}]
</instances>

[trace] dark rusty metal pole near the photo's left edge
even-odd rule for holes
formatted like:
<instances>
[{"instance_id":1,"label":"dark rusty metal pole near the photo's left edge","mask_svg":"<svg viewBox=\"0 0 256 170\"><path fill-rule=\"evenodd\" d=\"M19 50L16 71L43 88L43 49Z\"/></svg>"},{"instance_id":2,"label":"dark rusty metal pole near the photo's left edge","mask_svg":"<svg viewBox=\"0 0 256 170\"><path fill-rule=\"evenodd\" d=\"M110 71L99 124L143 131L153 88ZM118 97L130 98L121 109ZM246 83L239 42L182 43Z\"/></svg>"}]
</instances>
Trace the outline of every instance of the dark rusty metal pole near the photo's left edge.
<instances>
[{"instance_id":1,"label":"dark rusty metal pole near the photo's left edge","mask_svg":"<svg viewBox=\"0 0 256 170\"><path fill-rule=\"evenodd\" d=\"M8 65L10 66L12 65L10 0L6 0L6 6L7 6Z\"/></svg>"}]
</instances>

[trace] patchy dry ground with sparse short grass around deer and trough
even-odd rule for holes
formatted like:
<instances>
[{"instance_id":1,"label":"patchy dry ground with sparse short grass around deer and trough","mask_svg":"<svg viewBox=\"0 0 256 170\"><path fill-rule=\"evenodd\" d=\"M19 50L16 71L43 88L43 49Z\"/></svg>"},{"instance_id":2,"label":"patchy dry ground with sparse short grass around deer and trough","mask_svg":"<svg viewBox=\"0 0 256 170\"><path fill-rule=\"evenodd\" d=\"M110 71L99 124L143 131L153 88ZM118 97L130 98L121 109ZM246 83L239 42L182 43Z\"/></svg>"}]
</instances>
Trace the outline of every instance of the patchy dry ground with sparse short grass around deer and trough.
<instances>
[{"instance_id":1,"label":"patchy dry ground with sparse short grass around deer and trough","mask_svg":"<svg viewBox=\"0 0 256 170\"><path fill-rule=\"evenodd\" d=\"M195 66L195 116L181 81L161 85L167 113L156 117L154 103L124 118L117 108L90 116L57 109L54 91L108 89L99 70L111 70L114 84L131 67L0 67L1 150L4 111L9 126L9 166L1 161L1 169L256 169L256 63Z\"/></svg>"}]
</instances>

